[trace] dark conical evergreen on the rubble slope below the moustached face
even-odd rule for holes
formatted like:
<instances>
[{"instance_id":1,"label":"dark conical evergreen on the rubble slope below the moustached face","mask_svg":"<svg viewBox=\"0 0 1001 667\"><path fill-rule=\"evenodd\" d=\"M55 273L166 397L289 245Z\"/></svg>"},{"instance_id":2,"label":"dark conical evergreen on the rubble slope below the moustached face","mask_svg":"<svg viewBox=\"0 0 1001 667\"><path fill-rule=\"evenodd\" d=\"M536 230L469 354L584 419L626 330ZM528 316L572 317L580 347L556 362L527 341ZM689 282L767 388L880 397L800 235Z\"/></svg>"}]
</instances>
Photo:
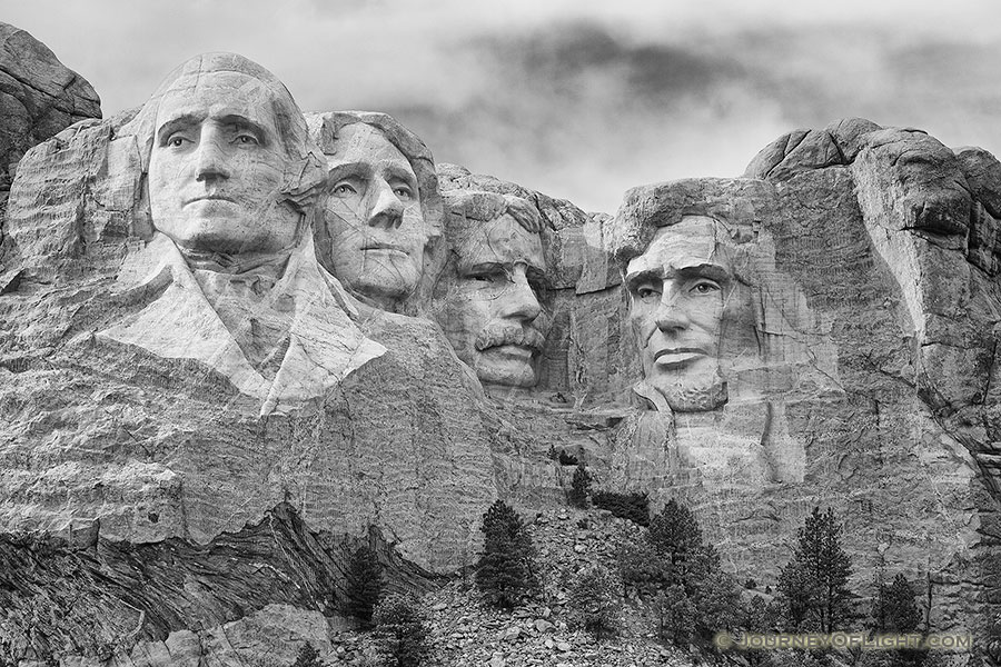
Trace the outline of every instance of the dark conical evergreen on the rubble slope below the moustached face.
<instances>
[{"instance_id":1,"label":"dark conical evergreen on the rubble slope below the moustached face","mask_svg":"<svg viewBox=\"0 0 1001 667\"><path fill-rule=\"evenodd\" d=\"M476 586L487 601L512 608L535 584L535 549L522 517L503 500L483 515L484 552L476 568Z\"/></svg>"}]
</instances>

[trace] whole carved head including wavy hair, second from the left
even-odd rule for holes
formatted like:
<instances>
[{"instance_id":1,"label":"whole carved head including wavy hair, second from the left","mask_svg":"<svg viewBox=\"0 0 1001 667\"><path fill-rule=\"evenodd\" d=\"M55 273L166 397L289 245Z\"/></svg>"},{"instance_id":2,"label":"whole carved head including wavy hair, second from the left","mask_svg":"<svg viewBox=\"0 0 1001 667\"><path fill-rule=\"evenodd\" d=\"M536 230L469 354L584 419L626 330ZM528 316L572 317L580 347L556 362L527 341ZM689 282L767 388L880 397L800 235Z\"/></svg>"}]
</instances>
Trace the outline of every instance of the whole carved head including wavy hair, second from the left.
<instances>
[{"instance_id":1,"label":"whole carved head including wavy hair, second from the left","mask_svg":"<svg viewBox=\"0 0 1001 667\"><path fill-rule=\"evenodd\" d=\"M430 151L385 113L310 113L308 122L329 170L315 230L320 262L359 299L404 310L440 233Z\"/></svg>"}]
</instances>

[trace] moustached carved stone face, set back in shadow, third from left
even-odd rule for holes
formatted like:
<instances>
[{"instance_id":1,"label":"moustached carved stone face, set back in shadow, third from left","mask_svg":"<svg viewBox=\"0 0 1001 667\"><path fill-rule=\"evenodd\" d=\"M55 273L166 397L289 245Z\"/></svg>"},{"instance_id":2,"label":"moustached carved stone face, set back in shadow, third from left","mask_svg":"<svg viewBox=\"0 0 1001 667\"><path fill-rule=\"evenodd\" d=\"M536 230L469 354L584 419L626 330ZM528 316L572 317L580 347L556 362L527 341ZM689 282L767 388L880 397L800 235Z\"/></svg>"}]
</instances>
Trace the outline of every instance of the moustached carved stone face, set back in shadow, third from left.
<instances>
[{"instance_id":1,"label":"moustached carved stone face, set back in shadow, third from left","mask_svg":"<svg viewBox=\"0 0 1001 667\"><path fill-rule=\"evenodd\" d=\"M539 235L509 215L478 222L455 252L456 285L443 328L480 381L533 387L552 319L541 303L545 259Z\"/></svg>"}]
</instances>

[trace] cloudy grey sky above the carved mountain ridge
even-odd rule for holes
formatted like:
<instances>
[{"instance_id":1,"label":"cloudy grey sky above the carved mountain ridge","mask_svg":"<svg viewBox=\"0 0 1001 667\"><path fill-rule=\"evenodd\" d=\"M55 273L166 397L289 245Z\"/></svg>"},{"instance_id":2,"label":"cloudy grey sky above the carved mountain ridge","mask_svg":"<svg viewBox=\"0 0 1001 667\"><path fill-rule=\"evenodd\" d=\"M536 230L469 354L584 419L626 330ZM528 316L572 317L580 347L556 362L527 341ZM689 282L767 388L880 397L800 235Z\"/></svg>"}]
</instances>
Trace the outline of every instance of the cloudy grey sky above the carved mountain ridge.
<instances>
[{"instance_id":1,"label":"cloudy grey sky above the carved mountain ridge","mask_svg":"<svg viewBox=\"0 0 1001 667\"><path fill-rule=\"evenodd\" d=\"M305 111L385 111L438 162L589 211L851 116L1001 155L997 0L0 0L0 21L105 116L235 51Z\"/></svg>"}]
</instances>

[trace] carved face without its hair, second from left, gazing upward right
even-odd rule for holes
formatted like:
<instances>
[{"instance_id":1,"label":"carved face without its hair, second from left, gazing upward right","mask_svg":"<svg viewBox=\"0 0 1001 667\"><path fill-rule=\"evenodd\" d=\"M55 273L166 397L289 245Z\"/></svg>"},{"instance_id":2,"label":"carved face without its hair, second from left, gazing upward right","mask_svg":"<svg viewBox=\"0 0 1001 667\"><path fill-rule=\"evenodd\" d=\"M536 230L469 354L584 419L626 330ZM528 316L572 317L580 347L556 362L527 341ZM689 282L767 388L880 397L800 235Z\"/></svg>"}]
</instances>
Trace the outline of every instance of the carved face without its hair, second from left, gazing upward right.
<instances>
[{"instance_id":1,"label":"carved face without its hair, second from left, gazing upward right","mask_svg":"<svg viewBox=\"0 0 1001 667\"><path fill-rule=\"evenodd\" d=\"M325 221L330 271L354 291L389 308L414 291L427 229L417 176L375 127L345 126L328 156Z\"/></svg>"}]
</instances>

